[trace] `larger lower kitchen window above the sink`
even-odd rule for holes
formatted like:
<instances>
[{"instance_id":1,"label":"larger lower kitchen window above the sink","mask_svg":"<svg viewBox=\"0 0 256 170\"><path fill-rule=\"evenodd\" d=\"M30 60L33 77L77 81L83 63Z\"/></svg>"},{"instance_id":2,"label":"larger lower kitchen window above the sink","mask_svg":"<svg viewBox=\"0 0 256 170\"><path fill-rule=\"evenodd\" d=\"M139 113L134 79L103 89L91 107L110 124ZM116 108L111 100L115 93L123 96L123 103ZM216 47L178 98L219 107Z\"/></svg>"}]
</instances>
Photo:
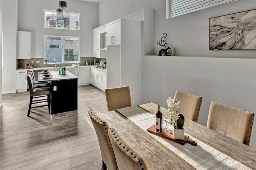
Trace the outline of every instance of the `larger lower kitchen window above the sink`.
<instances>
[{"instance_id":1,"label":"larger lower kitchen window above the sink","mask_svg":"<svg viewBox=\"0 0 256 170\"><path fill-rule=\"evenodd\" d=\"M56 63L80 62L80 37L44 35L44 59Z\"/></svg>"}]
</instances>

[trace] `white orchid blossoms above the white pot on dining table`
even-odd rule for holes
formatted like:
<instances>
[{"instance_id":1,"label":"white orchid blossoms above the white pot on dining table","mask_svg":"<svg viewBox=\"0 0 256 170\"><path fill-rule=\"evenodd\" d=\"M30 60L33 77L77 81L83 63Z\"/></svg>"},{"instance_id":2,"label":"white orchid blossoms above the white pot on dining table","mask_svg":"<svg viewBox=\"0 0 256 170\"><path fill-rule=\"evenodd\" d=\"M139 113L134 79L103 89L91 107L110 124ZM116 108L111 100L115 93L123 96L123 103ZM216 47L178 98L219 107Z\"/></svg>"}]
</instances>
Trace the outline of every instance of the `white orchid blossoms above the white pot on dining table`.
<instances>
[{"instance_id":1,"label":"white orchid blossoms above the white pot on dining table","mask_svg":"<svg viewBox=\"0 0 256 170\"><path fill-rule=\"evenodd\" d=\"M177 102L176 99L168 97L166 104L168 106L168 112L171 113L170 124L176 126L177 119L180 117L176 111L180 108L181 102Z\"/></svg>"}]
</instances>

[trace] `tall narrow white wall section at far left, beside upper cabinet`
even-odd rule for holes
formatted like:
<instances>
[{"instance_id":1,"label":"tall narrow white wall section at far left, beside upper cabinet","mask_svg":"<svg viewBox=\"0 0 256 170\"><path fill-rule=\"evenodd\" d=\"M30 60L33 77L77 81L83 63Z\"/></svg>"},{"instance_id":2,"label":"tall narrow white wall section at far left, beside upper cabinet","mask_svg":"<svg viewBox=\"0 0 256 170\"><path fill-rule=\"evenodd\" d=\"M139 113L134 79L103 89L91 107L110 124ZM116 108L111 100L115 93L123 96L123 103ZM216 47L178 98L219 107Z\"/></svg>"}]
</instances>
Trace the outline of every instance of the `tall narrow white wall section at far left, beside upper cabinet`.
<instances>
[{"instance_id":1,"label":"tall narrow white wall section at far left, beside upper cabinet","mask_svg":"<svg viewBox=\"0 0 256 170\"><path fill-rule=\"evenodd\" d=\"M16 35L18 2L16 0L2 0L2 31L3 31L3 70L2 93L15 93L16 87Z\"/></svg>"}]
</instances>

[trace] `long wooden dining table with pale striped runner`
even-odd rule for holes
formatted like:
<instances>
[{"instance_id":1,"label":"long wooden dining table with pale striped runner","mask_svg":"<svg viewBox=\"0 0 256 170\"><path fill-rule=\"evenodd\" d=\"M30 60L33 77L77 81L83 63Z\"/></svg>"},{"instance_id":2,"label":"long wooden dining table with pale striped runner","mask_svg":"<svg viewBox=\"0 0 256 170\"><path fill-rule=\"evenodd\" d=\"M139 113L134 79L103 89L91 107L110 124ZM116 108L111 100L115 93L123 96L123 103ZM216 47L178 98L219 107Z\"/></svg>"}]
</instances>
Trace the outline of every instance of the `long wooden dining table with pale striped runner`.
<instances>
[{"instance_id":1,"label":"long wooden dining table with pale striped runner","mask_svg":"<svg viewBox=\"0 0 256 170\"><path fill-rule=\"evenodd\" d=\"M188 119L185 120L184 130L187 135L193 137L192 139L197 140L196 147L192 145L190 147L189 143L181 145L150 134L145 127L140 126L140 122L147 124L150 124L148 121L154 122L153 115L148 113L153 114L156 108L156 104L147 103L98 113L98 115L110 128L116 129L124 141L140 154L149 170L256 169L255 149ZM140 116L140 113L133 115L134 109L142 109L143 116ZM198 152L203 150L204 153L200 155L196 149L200 149ZM216 157L214 152L217 152ZM199 159L200 156L209 158Z\"/></svg>"}]
</instances>

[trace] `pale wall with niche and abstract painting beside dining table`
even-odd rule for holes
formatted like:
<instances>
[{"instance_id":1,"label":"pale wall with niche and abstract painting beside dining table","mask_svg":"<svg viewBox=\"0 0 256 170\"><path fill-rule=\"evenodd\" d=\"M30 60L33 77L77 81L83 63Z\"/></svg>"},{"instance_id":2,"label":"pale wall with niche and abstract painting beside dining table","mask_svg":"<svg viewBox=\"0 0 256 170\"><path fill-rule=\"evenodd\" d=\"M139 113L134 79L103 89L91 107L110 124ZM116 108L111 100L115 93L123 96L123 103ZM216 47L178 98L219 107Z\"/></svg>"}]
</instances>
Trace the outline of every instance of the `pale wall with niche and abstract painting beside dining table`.
<instances>
[{"instance_id":1,"label":"pale wall with niche and abstract painting beside dining table","mask_svg":"<svg viewBox=\"0 0 256 170\"><path fill-rule=\"evenodd\" d=\"M167 33L167 43L175 55L188 57L142 57L142 103L166 107L176 90L203 97L198 123L206 125L210 102L215 100L256 112L256 53L254 50L209 51L209 18L256 8L256 1L238 0L176 18L165 19L165 0L102 1L99 25L116 20L141 8L154 11L154 54L156 41ZM145 17L145 16L144 16ZM146 25L144 21L144 25ZM144 27L144 37L145 27ZM150 36L150 35L149 35ZM145 45L145 41L144 41ZM256 140L254 121L251 141ZM256 143L250 147L256 149Z\"/></svg>"}]
</instances>

